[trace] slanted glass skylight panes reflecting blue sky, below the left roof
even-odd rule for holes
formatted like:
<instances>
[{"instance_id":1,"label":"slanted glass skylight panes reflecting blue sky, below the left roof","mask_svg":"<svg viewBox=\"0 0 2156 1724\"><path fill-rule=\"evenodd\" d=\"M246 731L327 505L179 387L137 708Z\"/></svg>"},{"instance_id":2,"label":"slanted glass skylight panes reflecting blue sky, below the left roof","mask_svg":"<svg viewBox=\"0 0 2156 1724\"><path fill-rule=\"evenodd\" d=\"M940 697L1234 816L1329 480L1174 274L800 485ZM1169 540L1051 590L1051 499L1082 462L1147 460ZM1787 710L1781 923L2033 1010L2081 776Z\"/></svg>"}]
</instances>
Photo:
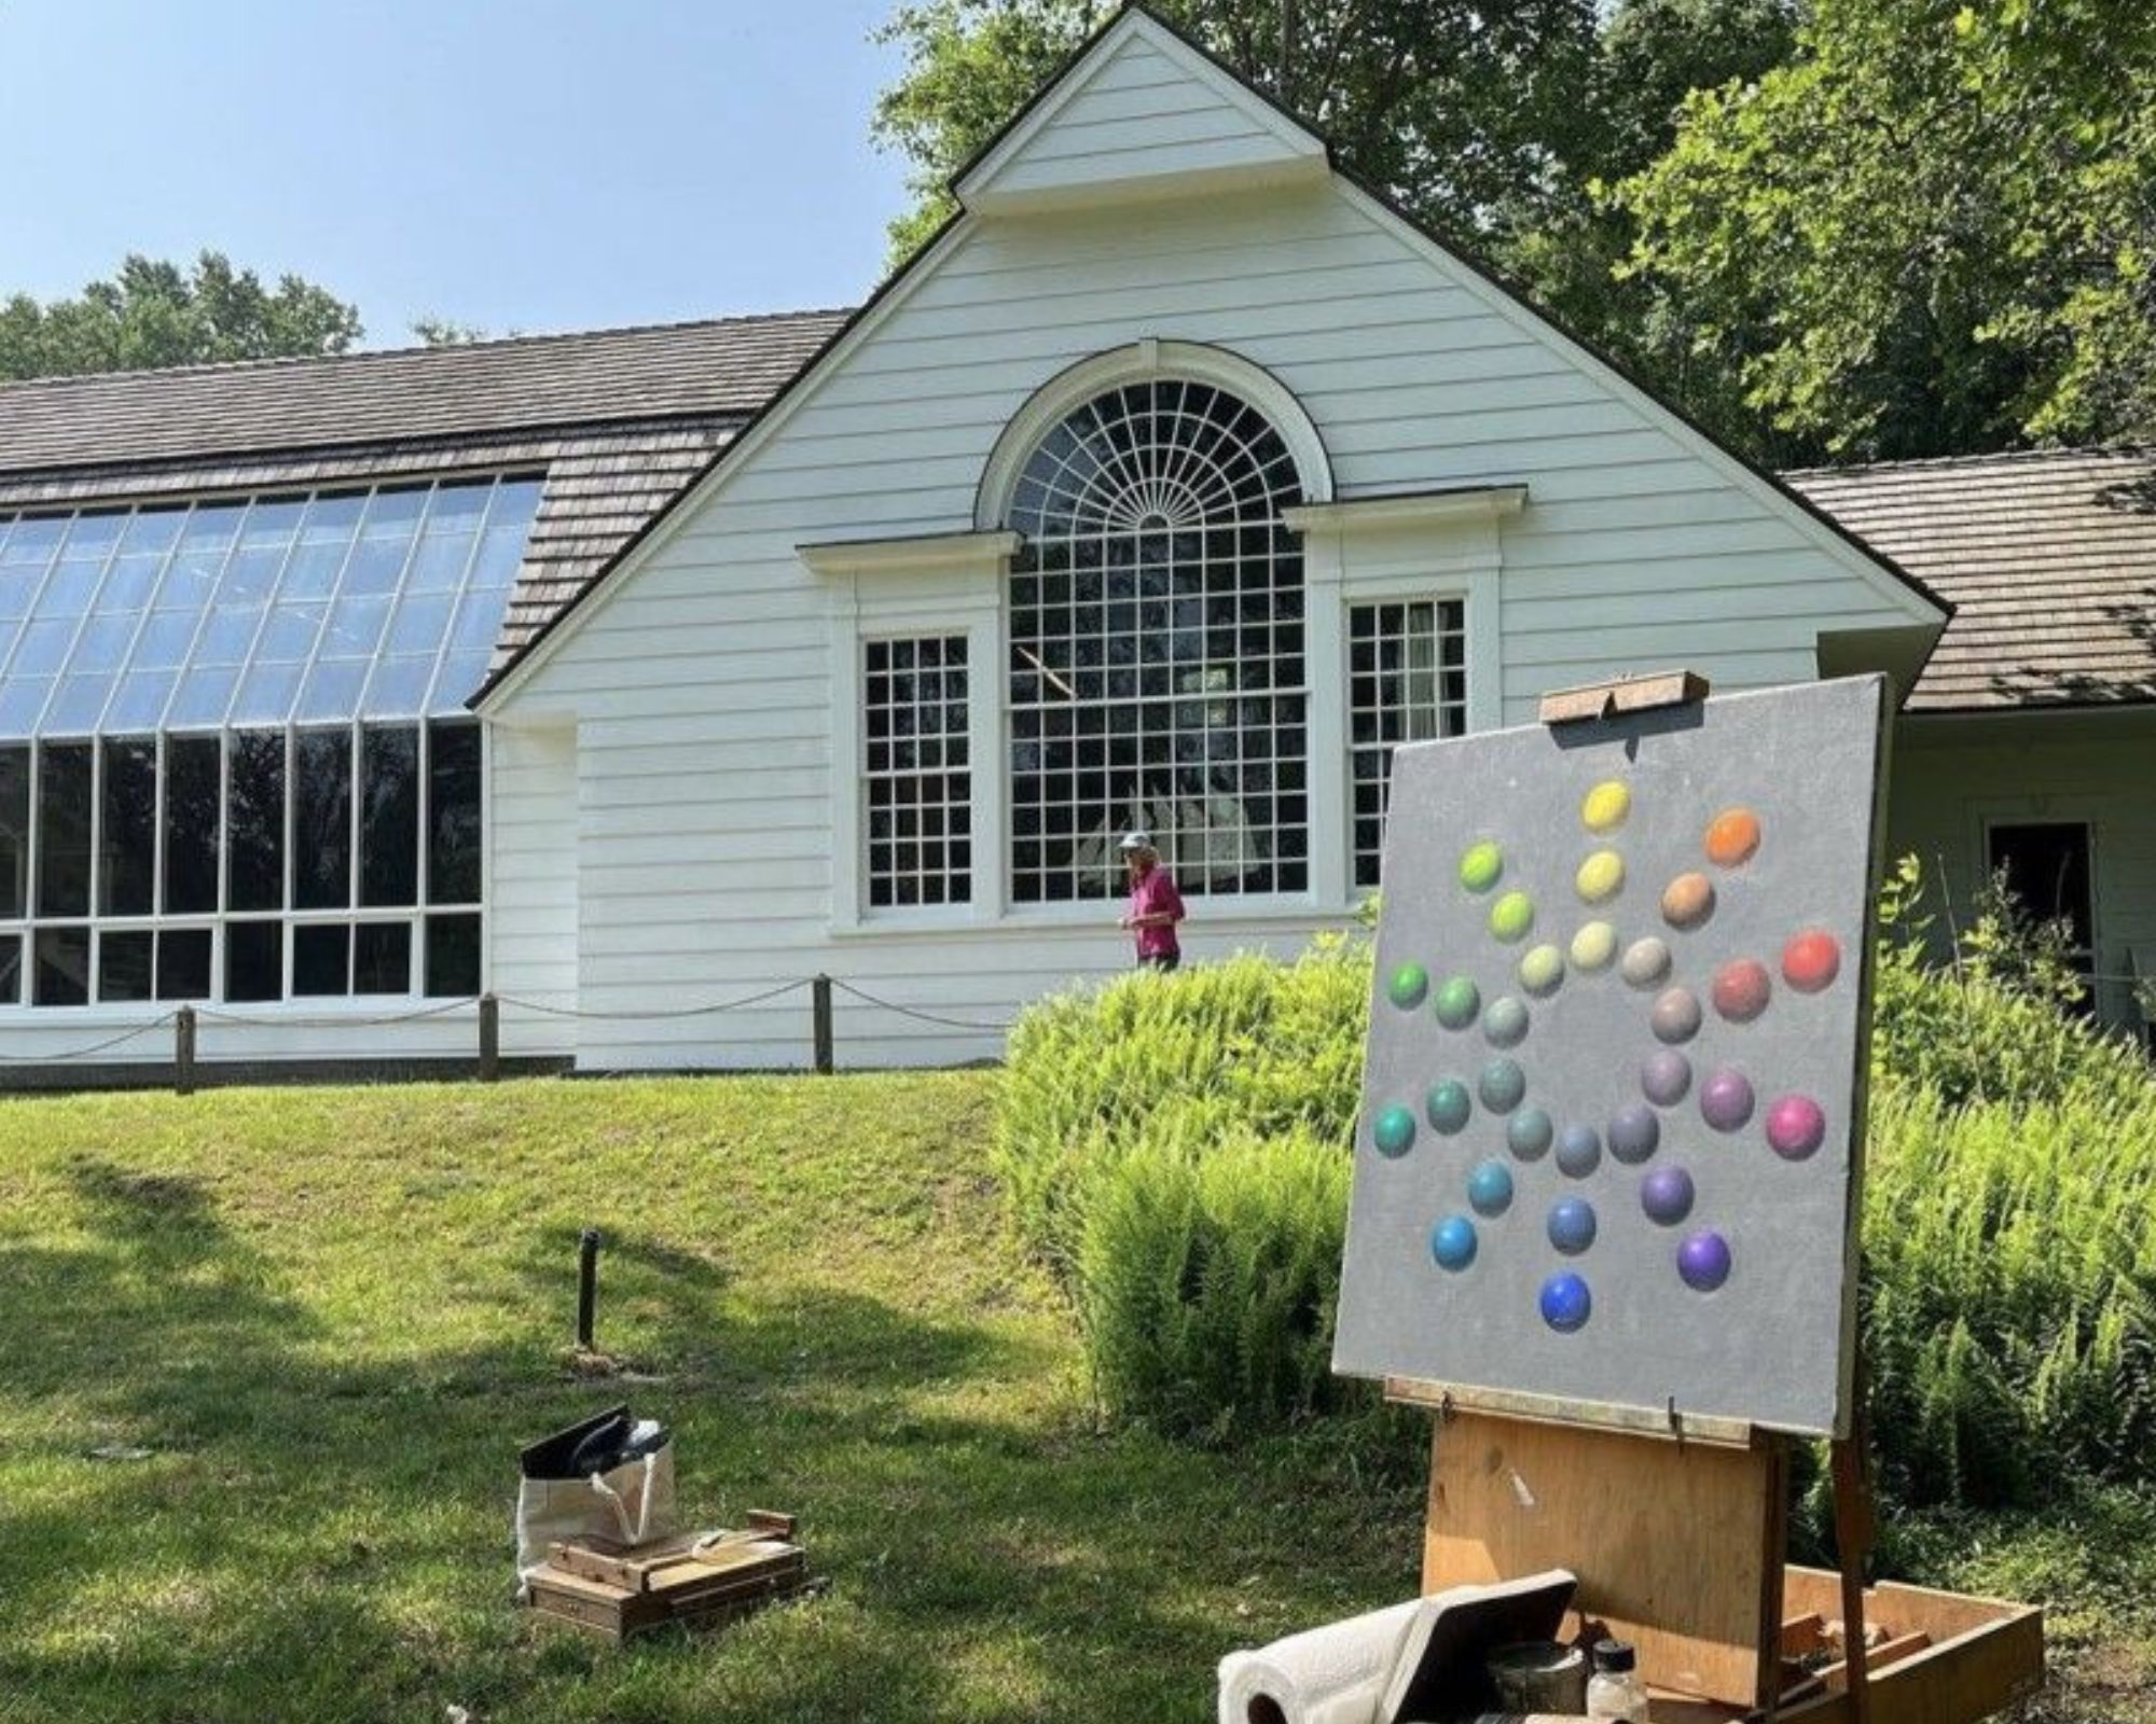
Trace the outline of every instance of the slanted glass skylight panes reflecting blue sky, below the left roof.
<instances>
[{"instance_id":1,"label":"slanted glass skylight panes reflecting blue sky, below the left roof","mask_svg":"<svg viewBox=\"0 0 2156 1724\"><path fill-rule=\"evenodd\" d=\"M0 737L461 711L539 478L0 515Z\"/></svg>"}]
</instances>

